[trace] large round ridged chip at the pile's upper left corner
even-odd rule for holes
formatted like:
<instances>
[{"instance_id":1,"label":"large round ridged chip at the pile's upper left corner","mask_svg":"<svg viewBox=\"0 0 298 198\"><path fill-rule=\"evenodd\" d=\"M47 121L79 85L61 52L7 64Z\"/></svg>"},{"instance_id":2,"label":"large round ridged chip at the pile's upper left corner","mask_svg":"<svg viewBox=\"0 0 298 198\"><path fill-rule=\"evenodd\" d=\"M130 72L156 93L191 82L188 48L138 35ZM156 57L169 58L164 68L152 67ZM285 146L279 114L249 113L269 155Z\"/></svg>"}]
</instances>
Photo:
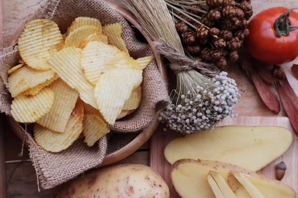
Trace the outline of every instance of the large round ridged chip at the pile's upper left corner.
<instances>
[{"instance_id":1,"label":"large round ridged chip at the pile's upper left corner","mask_svg":"<svg viewBox=\"0 0 298 198\"><path fill-rule=\"evenodd\" d=\"M34 69L50 70L47 61L63 48L58 25L48 19L35 19L25 25L18 39L18 49L25 63Z\"/></svg>"}]
</instances>

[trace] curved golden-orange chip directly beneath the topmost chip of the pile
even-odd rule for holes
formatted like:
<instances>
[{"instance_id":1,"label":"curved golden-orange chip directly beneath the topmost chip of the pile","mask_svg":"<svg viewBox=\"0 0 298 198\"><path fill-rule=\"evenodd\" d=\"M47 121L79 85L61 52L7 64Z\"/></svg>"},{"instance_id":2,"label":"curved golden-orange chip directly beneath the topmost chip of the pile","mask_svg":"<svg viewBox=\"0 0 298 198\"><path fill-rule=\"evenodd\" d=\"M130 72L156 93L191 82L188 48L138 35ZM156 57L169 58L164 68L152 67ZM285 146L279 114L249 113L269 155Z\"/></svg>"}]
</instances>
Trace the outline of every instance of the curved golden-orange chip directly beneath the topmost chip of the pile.
<instances>
[{"instance_id":1,"label":"curved golden-orange chip directly beneath the topmost chip of the pile","mask_svg":"<svg viewBox=\"0 0 298 198\"><path fill-rule=\"evenodd\" d=\"M100 28L87 25L76 28L65 38L64 48L74 47L79 48L80 44L91 34L99 33Z\"/></svg>"}]
</instances>

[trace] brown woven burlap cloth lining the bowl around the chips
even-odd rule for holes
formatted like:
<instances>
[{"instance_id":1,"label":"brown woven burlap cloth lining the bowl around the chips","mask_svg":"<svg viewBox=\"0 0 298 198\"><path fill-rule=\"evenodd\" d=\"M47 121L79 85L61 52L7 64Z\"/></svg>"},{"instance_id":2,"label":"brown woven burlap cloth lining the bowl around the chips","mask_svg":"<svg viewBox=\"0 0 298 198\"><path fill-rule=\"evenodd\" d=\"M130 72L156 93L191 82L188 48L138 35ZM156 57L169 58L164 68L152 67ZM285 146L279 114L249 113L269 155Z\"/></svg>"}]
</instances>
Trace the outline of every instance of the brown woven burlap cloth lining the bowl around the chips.
<instances>
[{"instance_id":1,"label":"brown woven burlap cloth lining the bowl around the chips","mask_svg":"<svg viewBox=\"0 0 298 198\"><path fill-rule=\"evenodd\" d=\"M103 25L122 23L122 37L130 55L134 58L153 55L148 44L136 39L130 24L103 0L47 0L26 22L34 18L49 18L58 24L62 33L65 33L67 27L78 16L98 18ZM11 97L6 89L7 71L17 64L19 58L16 45L3 49L0 55L0 111L7 115L10 115L11 104ZM30 130L24 130L25 143L29 147L29 155L42 188L53 188L92 167L99 166L104 160L107 148L108 153L122 148L138 135L138 131L149 126L155 112L168 104L169 97L155 61L144 70L143 77L143 98L139 108L134 114L110 126L113 131L130 134L112 134L109 146L106 136L92 148L88 148L83 140L79 139L62 152L50 153L36 145Z\"/></svg>"}]
</instances>

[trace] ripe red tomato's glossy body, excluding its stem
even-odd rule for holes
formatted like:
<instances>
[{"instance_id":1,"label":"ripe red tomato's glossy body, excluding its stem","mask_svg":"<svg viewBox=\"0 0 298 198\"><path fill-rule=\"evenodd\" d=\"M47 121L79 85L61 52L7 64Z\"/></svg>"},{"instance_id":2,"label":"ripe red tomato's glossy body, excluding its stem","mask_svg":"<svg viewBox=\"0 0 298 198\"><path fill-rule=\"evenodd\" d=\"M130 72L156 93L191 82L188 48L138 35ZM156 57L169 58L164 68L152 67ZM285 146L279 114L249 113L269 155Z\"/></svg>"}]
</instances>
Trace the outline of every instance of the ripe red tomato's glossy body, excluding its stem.
<instances>
[{"instance_id":1,"label":"ripe red tomato's glossy body, excluding its stem","mask_svg":"<svg viewBox=\"0 0 298 198\"><path fill-rule=\"evenodd\" d=\"M288 36L278 37L273 26L276 19L289 10L286 7L269 8L248 23L246 48L254 58L269 64L282 64L298 56L298 29L290 31ZM291 27L298 26L297 12L292 11L289 18Z\"/></svg>"}]
</instances>

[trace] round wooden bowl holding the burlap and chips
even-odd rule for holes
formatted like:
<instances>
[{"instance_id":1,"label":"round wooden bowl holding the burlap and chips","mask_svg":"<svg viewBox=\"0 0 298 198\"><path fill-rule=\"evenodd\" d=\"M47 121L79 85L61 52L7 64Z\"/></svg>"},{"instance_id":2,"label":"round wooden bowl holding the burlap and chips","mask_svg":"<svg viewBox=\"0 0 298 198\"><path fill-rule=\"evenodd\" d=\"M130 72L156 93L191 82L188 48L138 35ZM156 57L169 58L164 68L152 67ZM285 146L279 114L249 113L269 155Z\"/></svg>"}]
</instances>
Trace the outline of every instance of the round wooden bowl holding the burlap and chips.
<instances>
[{"instance_id":1,"label":"round wooden bowl holding the burlap and chips","mask_svg":"<svg viewBox=\"0 0 298 198\"><path fill-rule=\"evenodd\" d=\"M158 53L156 52L156 50L151 45L152 41L150 40L149 36L145 33L145 31L142 29L138 20L133 16L133 14L131 12L129 12L125 8L123 8L119 5L116 5L114 3L108 2L108 1L106 1L106 3L112 9L117 11L121 16L123 16L126 20L128 20L130 23L132 23L143 34L143 36L145 37L145 39L148 41L149 45L151 46L151 49L153 50L153 53L154 53L154 56L155 56L155 59L157 62L158 70L160 71L162 78L166 82L167 77L166 77L165 66L164 66L162 60L160 59ZM20 34L20 33L16 33L16 34ZM15 37L14 37L15 41L17 41L18 37L19 37L19 35L15 35ZM12 41L12 43L15 43L15 41ZM121 159L124 159L125 157L131 155L137 149L142 147L149 140L151 135L156 130L156 128L159 124L159 121L158 121L159 113L160 112L156 112L156 115L155 115L153 121L151 122L151 124L147 128L145 128L143 131L141 131L140 134L133 141L131 141L129 144L127 144L123 148L120 148L119 150L117 150L115 152L107 154L105 156L105 159L104 159L103 163L101 164L101 166L106 166L106 165L115 163L117 161L120 161ZM16 121L14 121L12 119L12 117L6 116L6 120L7 120L7 123L10 125L11 129L13 130L13 132L16 134L16 136L20 140L23 141L24 140L23 129L18 125L18 123Z\"/></svg>"}]
</instances>

